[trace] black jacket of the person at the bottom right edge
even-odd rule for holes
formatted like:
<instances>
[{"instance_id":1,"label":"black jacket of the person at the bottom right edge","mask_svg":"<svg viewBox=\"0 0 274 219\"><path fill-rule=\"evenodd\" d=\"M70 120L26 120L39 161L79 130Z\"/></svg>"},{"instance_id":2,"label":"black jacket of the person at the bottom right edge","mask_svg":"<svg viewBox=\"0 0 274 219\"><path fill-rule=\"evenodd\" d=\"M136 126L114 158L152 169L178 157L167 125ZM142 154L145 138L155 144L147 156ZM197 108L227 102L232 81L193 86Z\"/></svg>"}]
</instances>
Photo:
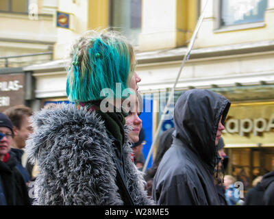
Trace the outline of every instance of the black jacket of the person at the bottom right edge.
<instances>
[{"instance_id":1,"label":"black jacket of the person at the bottom right edge","mask_svg":"<svg viewBox=\"0 0 274 219\"><path fill-rule=\"evenodd\" d=\"M264 175L261 183L264 188L264 205L274 205L274 171Z\"/></svg>"}]
</instances>

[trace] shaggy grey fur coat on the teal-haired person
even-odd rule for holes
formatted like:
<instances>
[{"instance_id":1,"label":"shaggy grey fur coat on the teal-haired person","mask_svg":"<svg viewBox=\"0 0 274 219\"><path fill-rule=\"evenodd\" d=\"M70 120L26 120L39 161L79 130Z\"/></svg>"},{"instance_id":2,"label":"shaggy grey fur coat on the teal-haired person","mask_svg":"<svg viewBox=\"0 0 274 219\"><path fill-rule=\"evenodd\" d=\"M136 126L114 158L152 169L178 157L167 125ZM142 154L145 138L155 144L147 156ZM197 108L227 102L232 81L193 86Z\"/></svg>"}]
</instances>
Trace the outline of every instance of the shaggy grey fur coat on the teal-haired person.
<instances>
[{"instance_id":1,"label":"shaggy grey fur coat on the teal-haired person","mask_svg":"<svg viewBox=\"0 0 274 219\"><path fill-rule=\"evenodd\" d=\"M26 149L40 170L34 205L123 205L115 183L112 140L96 112L58 105L36 112L32 122L35 131ZM131 153L127 138L123 146L127 188L136 205L153 205Z\"/></svg>"}]
</instances>

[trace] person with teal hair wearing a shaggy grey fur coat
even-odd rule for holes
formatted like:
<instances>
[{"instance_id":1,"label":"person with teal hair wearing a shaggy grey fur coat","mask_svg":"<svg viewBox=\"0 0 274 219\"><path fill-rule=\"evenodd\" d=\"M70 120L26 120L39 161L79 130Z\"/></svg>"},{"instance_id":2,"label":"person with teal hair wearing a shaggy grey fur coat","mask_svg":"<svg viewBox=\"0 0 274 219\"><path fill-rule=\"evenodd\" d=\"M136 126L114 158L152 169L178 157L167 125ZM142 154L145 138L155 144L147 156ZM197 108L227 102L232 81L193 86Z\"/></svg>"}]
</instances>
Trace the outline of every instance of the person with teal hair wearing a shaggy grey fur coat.
<instances>
[{"instance_id":1,"label":"person with teal hair wearing a shaggy grey fur coat","mask_svg":"<svg viewBox=\"0 0 274 219\"><path fill-rule=\"evenodd\" d=\"M131 129L125 126L123 106L130 105L140 81L135 65L132 45L114 31L92 31L75 43L66 81L75 104L32 118L36 131L27 151L40 170L34 204L153 204L132 162Z\"/></svg>"}]
</instances>

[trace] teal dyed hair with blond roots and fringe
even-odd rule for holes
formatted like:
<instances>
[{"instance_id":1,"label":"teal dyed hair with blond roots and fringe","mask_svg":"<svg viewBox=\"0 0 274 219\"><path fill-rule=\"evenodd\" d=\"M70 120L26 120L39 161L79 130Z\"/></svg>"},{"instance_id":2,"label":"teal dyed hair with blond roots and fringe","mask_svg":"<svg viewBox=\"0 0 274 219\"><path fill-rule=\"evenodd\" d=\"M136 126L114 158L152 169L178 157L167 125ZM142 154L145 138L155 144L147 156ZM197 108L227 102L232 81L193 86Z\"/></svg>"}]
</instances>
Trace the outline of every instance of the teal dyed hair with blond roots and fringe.
<instances>
[{"instance_id":1,"label":"teal dyed hair with blond roots and fringe","mask_svg":"<svg viewBox=\"0 0 274 219\"><path fill-rule=\"evenodd\" d=\"M135 66L131 44L114 31L88 34L80 38L71 53L66 80L66 94L75 103L98 101L101 90L108 88L114 97L123 99L123 90L131 79ZM116 90L120 83L121 90Z\"/></svg>"}]
</instances>

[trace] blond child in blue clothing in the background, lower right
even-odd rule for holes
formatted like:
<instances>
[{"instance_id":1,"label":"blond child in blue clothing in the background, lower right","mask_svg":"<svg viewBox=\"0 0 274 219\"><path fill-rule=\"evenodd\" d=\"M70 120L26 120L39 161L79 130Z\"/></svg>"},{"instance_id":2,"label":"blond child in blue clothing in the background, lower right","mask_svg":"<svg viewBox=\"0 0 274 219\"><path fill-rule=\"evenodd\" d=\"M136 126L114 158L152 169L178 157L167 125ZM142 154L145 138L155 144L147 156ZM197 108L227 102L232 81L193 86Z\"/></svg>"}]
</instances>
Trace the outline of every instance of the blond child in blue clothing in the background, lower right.
<instances>
[{"instance_id":1,"label":"blond child in blue clothing in the background, lower right","mask_svg":"<svg viewBox=\"0 0 274 219\"><path fill-rule=\"evenodd\" d=\"M227 205L239 205L240 203L240 191L234 187L236 183L235 177L232 175L225 175L223 185L225 185L225 199Z\"/></svg>"}]
</instances>

